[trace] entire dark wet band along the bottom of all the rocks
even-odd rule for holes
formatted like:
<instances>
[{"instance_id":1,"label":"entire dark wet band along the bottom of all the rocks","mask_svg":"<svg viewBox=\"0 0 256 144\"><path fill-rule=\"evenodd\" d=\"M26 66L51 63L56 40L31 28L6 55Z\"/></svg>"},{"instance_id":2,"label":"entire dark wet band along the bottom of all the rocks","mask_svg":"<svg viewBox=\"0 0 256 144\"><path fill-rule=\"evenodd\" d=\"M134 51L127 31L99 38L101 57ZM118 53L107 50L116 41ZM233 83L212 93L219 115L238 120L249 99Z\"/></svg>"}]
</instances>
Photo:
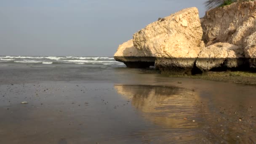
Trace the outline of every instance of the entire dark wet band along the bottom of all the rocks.
<instances>
[{"instance_id":1,"label":"entire dark wet band along the bottom of all the rocks","mask_svg":"<svg viewBox=\"0 0 256 144\"><path fill-rule=\"evenodd\" d=\"M130 68L155 66L162 74L200 75L209 71L256 71L256 59L250 58L155 58L115 57Z\"/></svg>"}]
</instances>

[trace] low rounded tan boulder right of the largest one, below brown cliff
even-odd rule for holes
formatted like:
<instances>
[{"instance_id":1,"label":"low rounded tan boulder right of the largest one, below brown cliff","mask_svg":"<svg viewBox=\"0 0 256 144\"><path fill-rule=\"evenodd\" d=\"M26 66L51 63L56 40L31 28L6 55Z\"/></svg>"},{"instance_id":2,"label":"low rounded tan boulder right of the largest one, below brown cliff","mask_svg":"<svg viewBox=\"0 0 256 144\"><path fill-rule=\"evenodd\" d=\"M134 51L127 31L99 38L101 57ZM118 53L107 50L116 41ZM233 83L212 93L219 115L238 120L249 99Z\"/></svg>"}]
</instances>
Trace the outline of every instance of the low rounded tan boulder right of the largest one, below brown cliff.
<instances>
[{"instance_id":1,"label":"low rounded tan boulder right of the largest one, below brown cliff","mask_svg":"<svg viewBox=\"0 0 256 144\"><path fill-rule=\"evenodd\" d=\"M238 69L244 66L244 62L243 46L215 43L202 48L196 60L196 67L203 72L213 69Z\"/></svg>"}]
</instances>

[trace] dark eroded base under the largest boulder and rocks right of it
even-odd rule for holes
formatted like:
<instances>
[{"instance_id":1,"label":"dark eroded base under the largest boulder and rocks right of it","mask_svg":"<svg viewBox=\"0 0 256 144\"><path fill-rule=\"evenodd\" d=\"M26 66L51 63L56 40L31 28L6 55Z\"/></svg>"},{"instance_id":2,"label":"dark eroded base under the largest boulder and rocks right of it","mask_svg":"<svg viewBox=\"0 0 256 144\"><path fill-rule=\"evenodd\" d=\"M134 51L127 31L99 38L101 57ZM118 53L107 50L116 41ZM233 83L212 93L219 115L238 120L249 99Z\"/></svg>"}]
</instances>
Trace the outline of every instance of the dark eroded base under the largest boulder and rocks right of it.
<instances>
[{"instance_id":1,"label":"dark eroded base under the largest boulder and rocks right of it","mask_svg":"<svg viewBox=\"0 0 256 144\"><path fill-rule=\"evenodd\" d=\"M157 58L155 66L163 74L198 75L208 71L253 71L256 68L256 59Z\"/></svg>"}]
</instances>

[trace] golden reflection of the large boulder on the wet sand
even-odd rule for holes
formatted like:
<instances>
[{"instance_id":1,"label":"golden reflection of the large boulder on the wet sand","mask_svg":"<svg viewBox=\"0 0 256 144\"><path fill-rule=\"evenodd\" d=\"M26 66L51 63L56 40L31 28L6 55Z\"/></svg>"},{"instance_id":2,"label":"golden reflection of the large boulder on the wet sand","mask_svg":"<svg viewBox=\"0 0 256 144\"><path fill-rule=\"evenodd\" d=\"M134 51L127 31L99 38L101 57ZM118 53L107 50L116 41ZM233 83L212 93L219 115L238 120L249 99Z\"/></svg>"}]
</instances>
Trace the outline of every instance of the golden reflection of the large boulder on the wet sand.
<instances>
[{"instance_id":1,"label":"golden reflection of the large boulder on the wet sand","mask_svg":"<svg viewBox=\"0 0 256 144\"><path fill-rule=\"evenodd\" d=\"M115 85L117 92L131 99L143 116L157 125L168 128L196 127L199 112L192 90L160 85ZM187 120L184 120L187 118Z\"/></svg>"}]
</instances>

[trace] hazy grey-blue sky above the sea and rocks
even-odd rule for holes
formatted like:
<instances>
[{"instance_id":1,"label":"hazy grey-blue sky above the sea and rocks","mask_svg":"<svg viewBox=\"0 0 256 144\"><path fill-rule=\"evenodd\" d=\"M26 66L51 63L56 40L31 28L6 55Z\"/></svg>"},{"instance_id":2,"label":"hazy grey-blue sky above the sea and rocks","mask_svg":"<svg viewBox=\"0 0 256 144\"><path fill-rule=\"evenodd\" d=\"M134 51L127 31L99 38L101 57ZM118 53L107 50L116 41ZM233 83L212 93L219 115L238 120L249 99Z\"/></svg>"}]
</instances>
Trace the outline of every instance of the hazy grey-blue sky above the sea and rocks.
<instances>
[{"instance_id":1,"label":"hazy grey-blue sky above the sea and rocks","mask_svg":"<svg viewBox=\"0 0 256 144\"><path fill-rule=\"evenodd\" d=\"M0 55L113 56L147 24L205 0L0 0Z\"/></svg>"}]
</instances>

